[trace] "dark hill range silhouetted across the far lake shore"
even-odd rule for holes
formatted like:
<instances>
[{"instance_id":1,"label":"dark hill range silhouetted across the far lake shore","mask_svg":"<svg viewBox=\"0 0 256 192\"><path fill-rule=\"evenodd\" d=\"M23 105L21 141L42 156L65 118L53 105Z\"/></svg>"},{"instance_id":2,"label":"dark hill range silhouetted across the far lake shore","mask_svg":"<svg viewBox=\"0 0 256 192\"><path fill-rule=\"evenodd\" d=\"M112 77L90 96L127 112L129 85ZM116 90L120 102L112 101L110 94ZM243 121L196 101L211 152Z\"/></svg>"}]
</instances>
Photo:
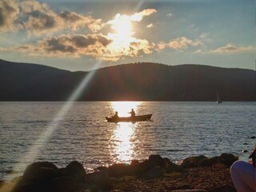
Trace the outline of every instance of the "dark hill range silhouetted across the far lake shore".
<instances>
[{"instance_id":1,"label":"dark hill range silhouetted across the far lake shore","mask_svg":"<svg viewBox=\"0 0 256 192\"><path fill-rule=\"evenodd\" d=\"M256 101L256 71L142 62L90 72L0 60L1 101L65 101L94 73L79 101Z\"/></svg>"}]
</instances>

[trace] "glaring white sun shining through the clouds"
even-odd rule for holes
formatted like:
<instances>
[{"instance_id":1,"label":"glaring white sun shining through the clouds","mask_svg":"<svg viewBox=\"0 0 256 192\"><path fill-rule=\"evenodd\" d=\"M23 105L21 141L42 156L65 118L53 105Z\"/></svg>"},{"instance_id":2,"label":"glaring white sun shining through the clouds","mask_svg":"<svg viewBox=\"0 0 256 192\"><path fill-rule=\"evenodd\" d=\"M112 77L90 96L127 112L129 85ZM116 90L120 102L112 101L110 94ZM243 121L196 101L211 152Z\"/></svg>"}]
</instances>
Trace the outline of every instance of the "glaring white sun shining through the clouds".
<instances>
[{"instance_id":1,"label":"glaring white sun shining through the clouds","mask_svg":"<svg viewBox=\"0 0 256 192\"><path fill-rule=\"evenodd\" d=\"M113 40L111 48L114 50L125 51L129 49L130 42L134 42L134 32L132 31L132 23L130 16L116 14L110 22L111 29L114 33L109 33L108 37Z\"/></svg>"}]
</instances>

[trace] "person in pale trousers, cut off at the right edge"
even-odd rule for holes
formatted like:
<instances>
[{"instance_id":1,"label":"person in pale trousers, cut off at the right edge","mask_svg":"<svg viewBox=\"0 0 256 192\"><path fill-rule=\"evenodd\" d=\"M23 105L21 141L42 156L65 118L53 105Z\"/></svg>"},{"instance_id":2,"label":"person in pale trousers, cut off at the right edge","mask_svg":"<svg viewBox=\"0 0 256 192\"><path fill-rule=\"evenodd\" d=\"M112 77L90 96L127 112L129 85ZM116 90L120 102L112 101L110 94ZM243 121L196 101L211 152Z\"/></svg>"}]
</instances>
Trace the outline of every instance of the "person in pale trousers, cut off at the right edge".
<instances>
[{"instance_id":1,"label":"person in pale trousers, cut off at the right edge","mask_svg":"<svg viewBox=\"0 0 256 192\"><path fill-rule=\"evenodd\" d=\"M249 156L249 158L253 158L251 163L237 161L230 167L231 178L238 192L256 191L255 153L256 145L254 146L254 151Z\"/></svg>"}]
</instances>

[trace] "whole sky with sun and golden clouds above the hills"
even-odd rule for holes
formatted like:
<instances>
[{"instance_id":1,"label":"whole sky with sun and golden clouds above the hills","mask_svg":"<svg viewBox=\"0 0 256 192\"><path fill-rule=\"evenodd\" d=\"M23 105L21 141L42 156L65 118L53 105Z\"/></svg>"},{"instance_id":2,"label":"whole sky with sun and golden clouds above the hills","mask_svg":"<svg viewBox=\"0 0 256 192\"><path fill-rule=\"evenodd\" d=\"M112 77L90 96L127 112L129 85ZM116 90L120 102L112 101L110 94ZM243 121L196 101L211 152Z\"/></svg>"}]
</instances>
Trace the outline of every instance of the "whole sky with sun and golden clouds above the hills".
<instances>
[{"instance_id":1,"label":"whole sky with sun and golden clouds above the hills","mask_svg":"<svg viewBox=\"0 0 256 192\"><path fill-rule=\"evenodd\" d=\"M1 0L0 59L70 71L130 62L255 70L255 18L254 0Z\"/></svg>"}]
</instances>

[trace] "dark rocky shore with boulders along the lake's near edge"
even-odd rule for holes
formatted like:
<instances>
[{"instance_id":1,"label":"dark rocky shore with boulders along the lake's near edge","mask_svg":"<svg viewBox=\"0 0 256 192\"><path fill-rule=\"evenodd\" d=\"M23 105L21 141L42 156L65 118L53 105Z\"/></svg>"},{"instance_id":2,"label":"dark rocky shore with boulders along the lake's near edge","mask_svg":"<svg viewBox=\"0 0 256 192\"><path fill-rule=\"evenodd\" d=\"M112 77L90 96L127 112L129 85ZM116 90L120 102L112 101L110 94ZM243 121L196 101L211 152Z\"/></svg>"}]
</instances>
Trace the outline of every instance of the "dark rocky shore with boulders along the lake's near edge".
<instances>
[{"instance_id":1,"label":"dark rocky shore with boulders along the lake's near edge","mask_svg":"<svg viewBox=\"0 0 256 192\"><path fill-rule=\"evenodd\" d=\"M154 154L141 162L101 166L90 174L76 161L63 168L34 162L22 176L0 181L0 192L235 192L229 169L236 160L233 154L201 155L176 165Z\"/></svg>"}]
</instances>

